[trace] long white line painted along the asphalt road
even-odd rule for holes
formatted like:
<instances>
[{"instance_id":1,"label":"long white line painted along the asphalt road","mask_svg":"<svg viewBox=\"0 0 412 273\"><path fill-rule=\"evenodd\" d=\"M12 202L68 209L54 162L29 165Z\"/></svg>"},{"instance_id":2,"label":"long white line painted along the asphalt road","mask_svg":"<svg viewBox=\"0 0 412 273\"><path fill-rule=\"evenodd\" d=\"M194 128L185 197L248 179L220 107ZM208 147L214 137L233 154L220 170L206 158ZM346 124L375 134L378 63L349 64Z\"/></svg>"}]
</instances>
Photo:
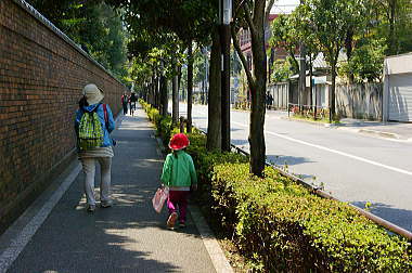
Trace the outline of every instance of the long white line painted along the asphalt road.
<instances>
[{"instance_id":1,"label":"long white line painted along the asphalt road","mask_svg":"<svg viewBox=\"0 0 412 273\"><path fill-rule=\"evenodd\" d=\"M240 122L235 122L235 121L231 121L231 122L233 125L239 125L239 126L248 128L248 126L240 123ZM344 153L344 152L340 152L340 151L337 151L337 150L334 150L334 148L329 148L329 147L324 147L324 146L321 146L321 145L318 145L318 144L312 144L312 143L309 143L309 142L306 142L306 141L293 139L291 136L282 135L282 134L279 134L279 133L275 133L275 132L270 132L270 131L267 131L267 130L265 130L265 133L272 134L272 135L275 135L278 138L282 138L282 139L285 139L285 140L288 140L288 141L293 141L293 142L296 142L296 143L299 143L299 144L304 144L304 145L307 145L307 146L311 146L311 147L316 147L316 148L319 148L319 150L327 151L330 153L334 153L334 154L338 154L338 155L342 155L342 156L346 156L346 157L349 157L349 158L352 158L352 159L357 159L357 160L362 161L362 162L368 162L368 164L371 164L371 165L374 165L374 166L378 166L378 167L382 167L382 168L385 168L385 169L388 169L388 170L392 170L392 171L397 171L397 172L400 172L400 173L403 173L403 174L412 176L411 171L399 169L399 168L391 167L391 166L384 165L384 164L379 164L379 162L376 162L376 161L373 161L373 160L370 160L370 159L366 159L366 158L363 158L363 157L360 157L360 156L355 156L355 155L351 155L351 154L348 154L348 153Z\"/></svg>"}]
</instances>

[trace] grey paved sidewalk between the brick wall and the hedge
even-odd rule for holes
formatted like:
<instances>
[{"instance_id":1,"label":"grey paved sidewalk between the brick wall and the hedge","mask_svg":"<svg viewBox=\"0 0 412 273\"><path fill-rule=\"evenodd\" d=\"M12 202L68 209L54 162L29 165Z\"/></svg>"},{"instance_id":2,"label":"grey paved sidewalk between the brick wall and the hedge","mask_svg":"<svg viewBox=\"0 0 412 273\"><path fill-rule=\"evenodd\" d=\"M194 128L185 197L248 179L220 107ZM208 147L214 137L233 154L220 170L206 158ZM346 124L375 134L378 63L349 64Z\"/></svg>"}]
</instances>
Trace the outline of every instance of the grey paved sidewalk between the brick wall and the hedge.
<instances>
[{"instance_id":1,"label":"grey paved sidewalk between the brick wall and the hedge","mask_svg":"<svg viewBox=\"0 0 412 273\"><path fill-rule=\"evenodd\" d=\"M137 114L119 117L113 134L117 140L112 167L114 206L87 213L83 174L75 173L73 183L37 231L31 231L37 222L31 220L26 221L29 224L23 232L8 231L0 237L0 272L8 268L10 273L221 272L215 269L208 244L202 239L204 234L201 236L196 229L196 211L190 211L186 229L169 231L165 226L167 209L157 214L152 208L163 158L145 113L139 108ZM73 171L78 172L79 166L75 165ZM39 213L48 206L42 205ZM14 262L7 264L4 258L13 256Z\"/></svg>"}]
</instances>

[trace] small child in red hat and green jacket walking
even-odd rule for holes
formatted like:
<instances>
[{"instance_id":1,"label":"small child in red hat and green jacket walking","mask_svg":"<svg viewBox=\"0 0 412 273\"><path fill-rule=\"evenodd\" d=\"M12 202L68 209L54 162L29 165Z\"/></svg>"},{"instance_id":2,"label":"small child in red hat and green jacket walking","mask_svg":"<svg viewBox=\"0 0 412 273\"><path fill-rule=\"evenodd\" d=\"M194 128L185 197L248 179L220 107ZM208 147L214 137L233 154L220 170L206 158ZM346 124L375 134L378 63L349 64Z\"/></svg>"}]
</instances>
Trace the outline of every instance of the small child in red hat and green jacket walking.
<instances>
[{"instance_id":1,"label":"small child in red hat and green jacket walking","mask_svg":"<svg viewBox=\"0 0 412 273\"><path fill-rule=\"evenodd\" d=\"M160 181L164 185L169 186L169 198L167 199L167 208L169 209L167 227L169 229L175 227L178 208L179 226L185 227L190 188L192 186L193 191L197 190L197 177L193 159L184 152L189 144L189 139L184 133L175 134L169 142L172 153L167 155L163 166Z\"/></svg>"}]
</instances>

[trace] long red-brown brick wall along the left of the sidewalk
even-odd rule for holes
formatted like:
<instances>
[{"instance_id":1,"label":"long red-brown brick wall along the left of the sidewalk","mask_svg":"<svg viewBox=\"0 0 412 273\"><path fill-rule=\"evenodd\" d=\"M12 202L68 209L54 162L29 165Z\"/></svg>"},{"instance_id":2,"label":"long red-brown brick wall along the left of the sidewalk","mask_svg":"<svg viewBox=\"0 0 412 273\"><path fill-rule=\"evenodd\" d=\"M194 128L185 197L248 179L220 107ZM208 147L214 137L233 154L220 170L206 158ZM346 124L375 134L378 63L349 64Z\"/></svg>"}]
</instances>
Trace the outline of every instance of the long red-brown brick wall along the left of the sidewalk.
<instances>
[{"instance_id":1,"label":"long red-brown brick wall along the left of the sidewalk","mask_svg":"<svg viewBox=\"0 0 412 273\"><path fill-rule=\"evenodd\" d=\"M18 1L0 1L0 225L74 154L74 113L89 82L119 113L119 81Z\"/></svg>"}]
</instances>

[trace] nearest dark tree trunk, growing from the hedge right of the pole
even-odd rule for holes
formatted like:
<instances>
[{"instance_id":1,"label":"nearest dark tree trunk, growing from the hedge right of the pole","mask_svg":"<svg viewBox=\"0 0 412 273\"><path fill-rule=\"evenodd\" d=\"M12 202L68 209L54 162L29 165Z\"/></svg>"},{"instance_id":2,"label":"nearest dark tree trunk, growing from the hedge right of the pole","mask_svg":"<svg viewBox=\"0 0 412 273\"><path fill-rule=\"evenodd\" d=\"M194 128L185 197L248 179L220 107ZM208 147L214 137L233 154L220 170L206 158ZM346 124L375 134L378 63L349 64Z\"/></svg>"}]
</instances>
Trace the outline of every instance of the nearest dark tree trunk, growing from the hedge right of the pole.
<instances>
[{"instance_id":1,"label":"nearest dark tree trunk, growing from the hedge right of the pole","mask_svg":"<svg viewBox=\"0 0 412 273\"><path fill-rule=\"evenodd\" d=\"M255 63L255 84L250 87L250 172L258 177L263 176L266 164L266 145L263 133L266 112L265 98L267 82L267 58L265 49L265 0L255 1L253 23L255 25L256 31L252 31L252 53Z\"/></svg>"}]
</instances>

